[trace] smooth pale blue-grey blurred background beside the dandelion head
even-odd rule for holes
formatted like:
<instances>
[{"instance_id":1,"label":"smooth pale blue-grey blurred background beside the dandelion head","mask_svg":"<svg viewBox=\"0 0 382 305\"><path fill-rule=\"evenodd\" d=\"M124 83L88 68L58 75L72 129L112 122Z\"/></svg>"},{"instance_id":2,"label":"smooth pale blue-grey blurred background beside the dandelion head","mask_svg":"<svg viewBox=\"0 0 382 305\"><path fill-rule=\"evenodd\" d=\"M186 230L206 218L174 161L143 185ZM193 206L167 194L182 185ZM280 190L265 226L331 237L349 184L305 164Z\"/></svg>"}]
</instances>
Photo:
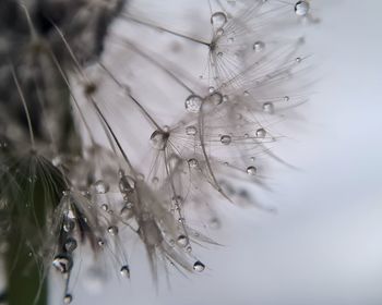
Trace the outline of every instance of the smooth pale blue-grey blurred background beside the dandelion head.
<instances>
[{"instance_id":1,"label":"smooth pale blue-grey blurred background beside the dandelion head","mask_svg":"<svg viewBox=\"0 0 382 305\"><path fill-rule=\"evenodd\" d=\"M170 270L156 290L133 245L130 281L85 274L73 304L382 304L382 2L311 7L321 23L303 32L318 81L276 149L297 169L275 164L272 192L258 196L277 213L224 205L213 234L225 246L199 251L205 272Z\"/></svg>"}]
</instances>

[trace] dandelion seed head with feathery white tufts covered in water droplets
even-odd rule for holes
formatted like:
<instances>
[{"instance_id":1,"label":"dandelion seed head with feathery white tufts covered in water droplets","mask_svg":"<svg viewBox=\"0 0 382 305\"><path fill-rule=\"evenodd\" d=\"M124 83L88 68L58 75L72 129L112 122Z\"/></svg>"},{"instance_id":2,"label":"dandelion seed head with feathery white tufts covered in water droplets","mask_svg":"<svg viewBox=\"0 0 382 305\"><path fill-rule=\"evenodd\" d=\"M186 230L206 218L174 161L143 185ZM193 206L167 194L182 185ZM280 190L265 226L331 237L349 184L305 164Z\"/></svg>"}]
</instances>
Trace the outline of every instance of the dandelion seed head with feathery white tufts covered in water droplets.
<instances>
[{"instance_id":1,"label":"dandelion seed head with feathery white tufts covered in water droplets","mask_svg":"<svg viewBox=\"0 0 382 305\"><path fill-rule=\"evenodd\" d=\"M192 246L217 243L192 219L217 225L222 200L254 203L236 184L266 186L262 157L277 159L272 125L307 100L307 82L296 80L306 69L303 38L287 30L314 22L310 3L203 0L196 7L207 19L189 12L191 27L177 29L176 16L151 14L182 12L181 1L165 2L1 1L9 304L46 304L51 267L71 303L80 247L130 277L133 235L155 280L167 263L201 272Z\"/></svg>"}]
</instances>

